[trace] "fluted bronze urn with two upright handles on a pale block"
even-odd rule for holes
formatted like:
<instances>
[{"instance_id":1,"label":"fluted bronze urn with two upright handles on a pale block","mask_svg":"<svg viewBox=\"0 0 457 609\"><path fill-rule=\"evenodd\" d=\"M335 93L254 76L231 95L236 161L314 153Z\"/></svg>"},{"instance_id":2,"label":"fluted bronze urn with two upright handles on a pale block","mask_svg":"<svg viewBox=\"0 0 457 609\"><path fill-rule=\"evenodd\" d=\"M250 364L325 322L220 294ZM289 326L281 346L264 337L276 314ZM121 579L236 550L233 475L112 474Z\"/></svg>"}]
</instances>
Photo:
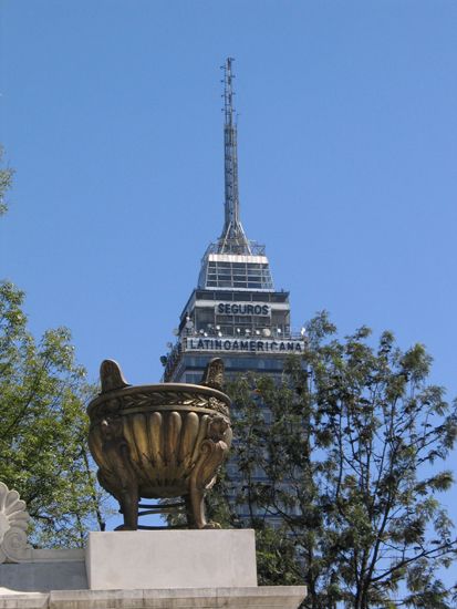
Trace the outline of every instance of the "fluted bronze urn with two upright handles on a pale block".
<instances>
[{"instance_id":1,"label":"fluted bronze urn with two upright handles on a pale block","mask_svg":"<svg viewBox=\"0 0 457 609\"><path fill-rule=\"evenodd\" d=\"M87 406L89 447L100 484L120 503L124 524L138 525L142 498L183 497L189 528L217 528L205 516L205 493L231 444L230 399L220 391L224 363L212 360L200 385L129 385L118 364L101 365L102 392Z\"/></svg>"}]
</instances>

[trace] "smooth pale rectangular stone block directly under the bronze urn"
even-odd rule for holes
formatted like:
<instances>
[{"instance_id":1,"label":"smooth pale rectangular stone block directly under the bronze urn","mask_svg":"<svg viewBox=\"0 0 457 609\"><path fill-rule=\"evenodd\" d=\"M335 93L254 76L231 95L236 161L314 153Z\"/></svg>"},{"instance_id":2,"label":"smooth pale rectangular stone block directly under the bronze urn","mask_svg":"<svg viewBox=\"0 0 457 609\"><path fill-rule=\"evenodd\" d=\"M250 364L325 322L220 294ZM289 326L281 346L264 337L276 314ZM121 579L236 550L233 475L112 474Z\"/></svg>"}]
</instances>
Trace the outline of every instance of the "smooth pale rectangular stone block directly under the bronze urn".
<instances>
[{"instance_id":1,"label":"smooth pale rectangular stone block directly under the bronze urn","mask_svg":"<svg viewBox=\"0 0 457 609\"><path fill-rule=\"evenodd\" d=\"M90 533L91 590L257 586L255 533L135 530Z\"/></svg>"}]
</instances>

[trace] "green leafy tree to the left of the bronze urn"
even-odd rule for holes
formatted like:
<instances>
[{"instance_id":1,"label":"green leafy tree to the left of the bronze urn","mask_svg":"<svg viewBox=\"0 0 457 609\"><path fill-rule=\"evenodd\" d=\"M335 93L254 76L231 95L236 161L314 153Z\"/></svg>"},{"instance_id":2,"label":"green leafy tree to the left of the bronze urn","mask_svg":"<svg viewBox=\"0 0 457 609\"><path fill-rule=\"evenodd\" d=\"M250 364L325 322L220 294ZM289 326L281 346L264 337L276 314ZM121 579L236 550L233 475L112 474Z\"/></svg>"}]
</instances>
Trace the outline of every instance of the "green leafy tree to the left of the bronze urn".
<instances>
[{"instance_id":1,"label":"green leafy tree to the left of the bronze urn","mask_svg":"<svg viewBox=\"0 0 457 609\"><path fill-rule=\"evenodd\" d=\"M81 546L103 520L86 448L94 388L69 331L49 330L37 343L22 303L21 291L0 283L0 479L27 502L33 543Z\"/></svg>"}]
</instances>

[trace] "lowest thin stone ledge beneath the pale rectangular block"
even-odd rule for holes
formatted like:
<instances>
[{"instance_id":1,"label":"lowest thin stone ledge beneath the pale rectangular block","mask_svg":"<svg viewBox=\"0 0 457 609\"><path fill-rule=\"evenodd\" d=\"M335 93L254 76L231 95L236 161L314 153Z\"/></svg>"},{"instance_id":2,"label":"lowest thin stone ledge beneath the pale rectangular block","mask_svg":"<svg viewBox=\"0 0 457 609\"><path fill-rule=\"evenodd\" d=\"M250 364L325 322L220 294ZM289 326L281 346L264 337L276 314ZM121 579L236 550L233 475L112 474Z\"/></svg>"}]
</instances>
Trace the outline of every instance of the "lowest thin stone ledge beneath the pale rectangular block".
<instances>
[{"instance_id":1,"label":"lowest thin stone ledge beneath the pale rectangular block","mask_svg":"<svg viewBox=\"0 0 457 609\"><path fill-rule=\"evenodd\" d=\"M4 589L3 589L4 590ZM297 609L304 586L181 590L65 590L3 596L0 609Z\"/></svg>"}]
</instances>

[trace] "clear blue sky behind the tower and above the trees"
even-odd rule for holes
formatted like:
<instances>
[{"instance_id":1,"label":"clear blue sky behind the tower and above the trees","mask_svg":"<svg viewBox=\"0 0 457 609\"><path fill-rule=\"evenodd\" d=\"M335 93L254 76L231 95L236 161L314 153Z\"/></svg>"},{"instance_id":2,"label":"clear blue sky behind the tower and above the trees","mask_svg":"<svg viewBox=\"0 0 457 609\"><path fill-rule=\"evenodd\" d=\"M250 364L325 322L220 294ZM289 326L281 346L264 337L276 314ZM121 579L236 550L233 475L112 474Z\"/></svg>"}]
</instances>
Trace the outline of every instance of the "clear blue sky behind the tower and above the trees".
<instances>
[{"instance_id":1,"label":"clear blue sky behind the tower and above the trees","mask_svg":"<svg viewBox=\"0 0 457 609\"><path fill-rule=\"evenodd\" d=\"M91 379L104 358L159 379L222 226L231 55L241 217L294 327L328 309L343 334L423 342L457 394L454 0L3 0L0 19L0 277L37 334L70 327Z\"/></svg>"}]
</instances>

